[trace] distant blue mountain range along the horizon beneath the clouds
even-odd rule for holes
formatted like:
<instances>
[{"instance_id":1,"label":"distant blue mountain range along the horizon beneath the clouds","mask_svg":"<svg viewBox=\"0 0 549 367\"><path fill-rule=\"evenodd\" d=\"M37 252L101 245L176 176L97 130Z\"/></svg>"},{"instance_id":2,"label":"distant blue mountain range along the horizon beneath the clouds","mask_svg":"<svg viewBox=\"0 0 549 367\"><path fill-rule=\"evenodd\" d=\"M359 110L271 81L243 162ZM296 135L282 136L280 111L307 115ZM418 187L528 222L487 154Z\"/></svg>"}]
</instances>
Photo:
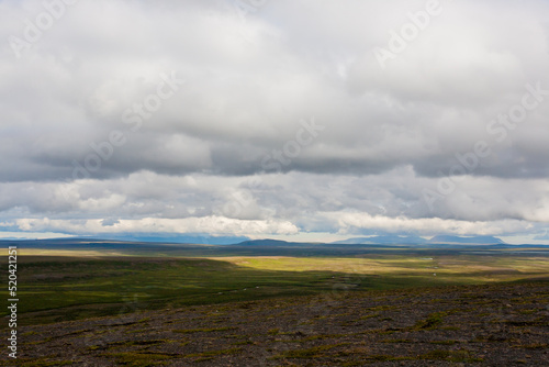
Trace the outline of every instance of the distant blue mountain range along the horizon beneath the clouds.
<instances>
[{"instance_id":1,"label":"distant blue mountain range along the horizon beneath the clouds","mask_svg":"<svg viewBox=\"0 0 549 367\"><path fill-rule=\"evenodd\" d=\"M412 242L425 243L413 244ZM366 240L366 241L365 241ZM381 243L384 241L384 243ZM359 244L358 242L365 242ZM0 241L0 245L16 245L21 249L87 251L97 255L132 256L366 256L374 254L405 254L430 257L448 254L492 254L507 251L508 254L535 254L548 256L549 245L509 245L500 238L490 236L436 236L425 240L415 236L380 235L372 237L349 238L345 243L300 243L278 240L247 240L232 244L180 244L168 242L128 242L99 238L51 238Z\"/></svg>"}]
</instances>

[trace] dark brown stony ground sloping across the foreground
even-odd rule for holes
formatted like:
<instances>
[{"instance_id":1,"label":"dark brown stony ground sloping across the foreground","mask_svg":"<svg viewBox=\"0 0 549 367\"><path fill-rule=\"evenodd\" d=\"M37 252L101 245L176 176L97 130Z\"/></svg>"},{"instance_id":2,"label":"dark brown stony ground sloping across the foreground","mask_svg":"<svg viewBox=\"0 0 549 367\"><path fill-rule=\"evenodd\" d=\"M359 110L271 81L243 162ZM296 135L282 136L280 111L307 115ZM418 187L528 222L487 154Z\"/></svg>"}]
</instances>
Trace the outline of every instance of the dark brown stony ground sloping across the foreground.
<instances>
[{"instance_id":1,"label":"dark brown stony ground sloping across the foreground","mask_svg":"<svg viewBox=\"0 0 549 367\"><path fill-rule=\"evenodd\" d=\"M548 301L547 281L335 287L22 326L18 365L547 366Z\"/></svg>"}]
</instances>

